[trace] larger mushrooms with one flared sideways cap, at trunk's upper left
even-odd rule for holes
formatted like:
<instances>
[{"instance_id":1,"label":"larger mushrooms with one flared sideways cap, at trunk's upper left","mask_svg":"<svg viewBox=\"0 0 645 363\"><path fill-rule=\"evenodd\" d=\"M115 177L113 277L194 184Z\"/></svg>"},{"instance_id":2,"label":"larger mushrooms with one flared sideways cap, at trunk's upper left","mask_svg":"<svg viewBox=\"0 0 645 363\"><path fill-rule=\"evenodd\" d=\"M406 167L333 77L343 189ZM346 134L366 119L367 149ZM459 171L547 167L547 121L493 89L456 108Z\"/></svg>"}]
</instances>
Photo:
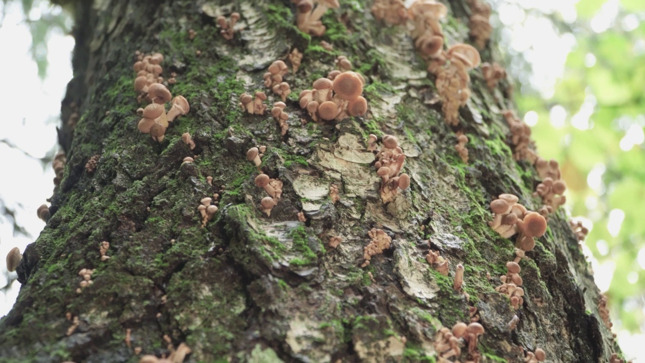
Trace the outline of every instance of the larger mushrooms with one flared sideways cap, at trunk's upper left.
<instances>
[{"instance_id":1,"label":"larger mushrooms with one flared sideways cap, at trunk's upper left","mask_svg":"<svg viewBox=\"0 0 645 363\"><path fill-rule=\"evenodd\" d=\"M161 83L154 83L148 87L148 98L152 101L143 109L142 119L139 120L139 131L150 134L152 140L161 142L166 134L169 123L177 116L185 115L190 110L190 105L184 96L172 98L172 94ZM172 106L166 114L165 103L171 101Z\"/></svg>"}]
</instances>

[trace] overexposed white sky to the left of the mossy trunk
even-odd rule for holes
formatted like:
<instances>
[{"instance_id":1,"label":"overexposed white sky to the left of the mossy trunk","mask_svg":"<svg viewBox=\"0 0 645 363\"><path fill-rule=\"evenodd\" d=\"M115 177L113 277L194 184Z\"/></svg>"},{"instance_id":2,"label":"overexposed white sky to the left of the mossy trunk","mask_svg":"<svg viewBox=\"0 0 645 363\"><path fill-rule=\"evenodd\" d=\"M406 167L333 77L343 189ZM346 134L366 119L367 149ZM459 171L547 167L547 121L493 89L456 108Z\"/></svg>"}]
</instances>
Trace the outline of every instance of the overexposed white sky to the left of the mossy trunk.
<instances>
[{"instance_id":1,"label":"overexposed white sky to the left of the mossy trunk","mask_svg":"<svg viewBox=\"0 0 645 363\"><path fill-rule=\"evenodd\" d=\"M19 3L10 1L5 10L6 17L0 27L0 48L3 50L0 69L5 70L0 81L4 86L0 87L3 109L0 140L9 140L35 158L42 158L56 145L61 99L67 82L72 78L74 38L63 36L61 32L52 34L48 41L50 72L45 81L41 81L29 50L32 36L25 25ZM50 166L43 170L39 160L27 157L5 143L0 143L0 156L0 170L3 171L0 200L5 202L6 207L15 210L19 225L32 236L14 236L12 223L0 216L1 286L5 285L8 274L6 254L13 247L25 251L26 245L34 242L45 227L45 222L37 218L36 209L52 196L54 171ZM14 304L19 285L14 282L6 295L0 291L0 316L5 315Z\"/></svg>"}]
</instances>

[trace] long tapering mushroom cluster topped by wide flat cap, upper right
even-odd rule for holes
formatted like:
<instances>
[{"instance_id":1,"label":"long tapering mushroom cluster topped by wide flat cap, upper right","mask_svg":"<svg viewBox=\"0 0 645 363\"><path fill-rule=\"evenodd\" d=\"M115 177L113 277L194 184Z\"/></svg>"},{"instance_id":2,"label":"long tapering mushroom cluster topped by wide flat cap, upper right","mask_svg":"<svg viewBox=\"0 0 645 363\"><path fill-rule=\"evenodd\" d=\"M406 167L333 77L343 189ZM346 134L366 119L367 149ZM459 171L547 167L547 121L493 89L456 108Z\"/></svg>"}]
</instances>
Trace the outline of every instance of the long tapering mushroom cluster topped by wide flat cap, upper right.
<instances>
[{"instance_id":1,"label":"long tapering mushroom cluster topped by wide flat cap, upper right","mask_svg":"<svg viewBox=\"0 0 645 363\"><path fill-rule=\"evenodd\" d=\"M471 45L455 44L445 53L448 61L437 70L437 92L441 96L441 109L448 125L459 123L459 107L470 98L468 71L479 66L479 52Z\"/></svg>"}]
</instances>

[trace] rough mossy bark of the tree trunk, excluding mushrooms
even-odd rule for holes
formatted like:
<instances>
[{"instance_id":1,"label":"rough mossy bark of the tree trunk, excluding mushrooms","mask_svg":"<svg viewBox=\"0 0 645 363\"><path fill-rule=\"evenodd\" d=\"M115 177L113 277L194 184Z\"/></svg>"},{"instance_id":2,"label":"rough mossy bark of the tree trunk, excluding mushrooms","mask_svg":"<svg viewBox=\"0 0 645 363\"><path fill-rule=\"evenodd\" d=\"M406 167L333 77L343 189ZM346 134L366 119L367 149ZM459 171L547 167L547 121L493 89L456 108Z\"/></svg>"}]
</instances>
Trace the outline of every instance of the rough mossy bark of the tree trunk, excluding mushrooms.
<instances>
[{"instance_id":1,"label":"rough mossy bark of the tree trunk, excluding mushrooms","mask_svg":"<svg viewBox=\"0 0 645 363\"><path fill-rule=\"evenodd\" d=\"M513 311L494 291L513 242L486 224L488 203L511 192L535 209L530 194L538 180L531 165L511 158L499 112L508 100L499 90L495 100L479 70L471 72L473 97L461 110L466 165L406 30L375 21L371 1L341 0L339 11L324 16L321 39L332 52L297 31L288 0L90 3L75 5L75 77L62 107L66 120L74 101L81 119L59 132L68 163L52 218L19 265L17 303L0 321L2 362L137 362L134 347L164 353L163 335L190 346L187 362L433 362L435 332L468 321L469 306L486 328L484 362L521 362L522 347L541 347L549 362L608 362L617 351L562 211L521 262L524 305ZM447 43L467 41L467 6L447 5ZM241 13L244 30L224 41L213 16L232 11ZM270 115L243 114L237 102L242 92L270 94L263 72L292 47L304 59L286 76L293 93L283 137ZM135 50L162 52L164 76L177 72L170 90L191 104L163 143L137 130ZM350 57L367 79L370 112L301 125L308 116L297 95L337 55ZM482 58L490 61L490 50ZM183 132L193 135L194 152ZM388 205L366 150L369 133L397 136L408 157L412 186ZM259 211L265 194L245 157L256 145L268 147L264 172L284 182L270 218ZM84 164L94 154L101 155L97 171L88 174ZM195 163L182 164L194 154ZM332 183L341 192L335 204ZM219 189L219 211L202 228L199 200ZM303 210L304 223L296 216ZM363 269L372 227L392 237L392 249ZM331 236L342 236L337 249L326 245ZM104 240L112 258L101 262ZM451 277L425 262L427 240L449 258ZM452 288L458 263L466 267L470 302ZM95 269L94 285L77 294L85 267ZM80 323L69 336L68 312ZM515 313L519 324L510 331Z\"/></svg>"}]
</instances>

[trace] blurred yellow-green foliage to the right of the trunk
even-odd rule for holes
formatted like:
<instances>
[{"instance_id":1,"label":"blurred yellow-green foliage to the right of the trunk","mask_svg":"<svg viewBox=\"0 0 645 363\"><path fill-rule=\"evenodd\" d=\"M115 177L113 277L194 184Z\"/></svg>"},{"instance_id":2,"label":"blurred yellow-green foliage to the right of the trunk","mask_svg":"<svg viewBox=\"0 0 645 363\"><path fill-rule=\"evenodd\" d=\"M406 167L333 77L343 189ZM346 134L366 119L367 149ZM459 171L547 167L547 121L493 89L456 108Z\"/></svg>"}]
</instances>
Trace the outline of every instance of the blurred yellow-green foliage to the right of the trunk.
<instances>
[{"instance_id":1,"label":"blurred yellow-green foliage to the right of the trunk","mask_svg":"<svg viewBox=\"0 0 645 363\"><path fill-rule=\"evenodd\" d=\"M544 99L522 87L516 101L537 112L533 138L542 157L561 163L571 214L591 227L583 244L597 270L615 266L606 293L615 325L645 331L645 261L637 261L645 248L645 1L581 0L575 11L570 23L548 16L575 36L555 92Z\"/></svg>"}]
</instances>

